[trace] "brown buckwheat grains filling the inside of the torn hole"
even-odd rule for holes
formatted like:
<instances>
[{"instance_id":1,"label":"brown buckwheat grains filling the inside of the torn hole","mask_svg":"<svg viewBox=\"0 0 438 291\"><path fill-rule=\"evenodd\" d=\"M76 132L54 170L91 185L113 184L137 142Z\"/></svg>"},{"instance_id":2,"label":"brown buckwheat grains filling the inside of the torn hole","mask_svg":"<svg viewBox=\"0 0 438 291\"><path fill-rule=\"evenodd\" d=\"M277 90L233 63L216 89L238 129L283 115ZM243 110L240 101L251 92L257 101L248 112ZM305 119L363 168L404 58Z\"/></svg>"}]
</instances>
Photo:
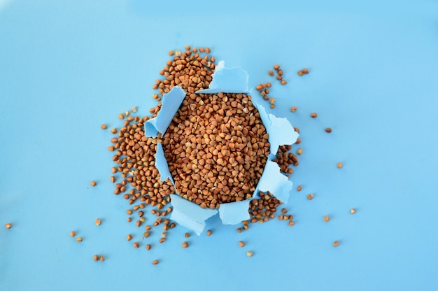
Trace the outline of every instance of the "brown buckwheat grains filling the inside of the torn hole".
<instances>
[{"instance_id":1,"label":"brown buckwheat grains filling the inside of the torn hole","mask_svg":"<svg viewBox=\"0 0 438 291\"><path fill-rule=\"evenodd\" d=\"M250 198L269 153L246 94L190 94L163 138L178 194L202 208Z\"/></svg>"}]
</instances>

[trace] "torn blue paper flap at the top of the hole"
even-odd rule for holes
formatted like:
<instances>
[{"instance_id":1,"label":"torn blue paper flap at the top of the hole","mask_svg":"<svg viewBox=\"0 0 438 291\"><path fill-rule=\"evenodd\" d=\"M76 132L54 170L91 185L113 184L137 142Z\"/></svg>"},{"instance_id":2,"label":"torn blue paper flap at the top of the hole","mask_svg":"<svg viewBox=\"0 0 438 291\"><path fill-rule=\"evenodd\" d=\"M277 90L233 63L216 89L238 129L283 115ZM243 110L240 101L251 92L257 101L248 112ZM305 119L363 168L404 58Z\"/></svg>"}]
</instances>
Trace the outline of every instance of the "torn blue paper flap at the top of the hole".
<instances>
[{"instance_id":1,"label":"torn blue paper flap at the top of the hole","mask_svg":"<svg viewBox=\"0 0 438 291\"><path fill-rule=\"evenodd\" d=\"M249 75L240 67L225 68L225 62L220 61L211 77L213 80L211 80L209 89L199 90L196 93L249 93Z\"/></svg>"}]
</instances>

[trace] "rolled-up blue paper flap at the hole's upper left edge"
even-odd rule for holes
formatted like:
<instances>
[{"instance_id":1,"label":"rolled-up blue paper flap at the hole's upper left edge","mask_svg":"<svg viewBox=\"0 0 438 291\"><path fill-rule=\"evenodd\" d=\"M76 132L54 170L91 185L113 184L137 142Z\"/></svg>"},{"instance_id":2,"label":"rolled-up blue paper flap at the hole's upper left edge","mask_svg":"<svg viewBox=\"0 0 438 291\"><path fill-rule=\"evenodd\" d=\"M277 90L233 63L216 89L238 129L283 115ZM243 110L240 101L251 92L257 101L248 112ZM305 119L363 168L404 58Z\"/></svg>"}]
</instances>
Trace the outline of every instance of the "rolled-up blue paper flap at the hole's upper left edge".
<instances>
[{"instance_id":1,"label":"rolled-up blue paper flap at the hole's upper left edge","mask_svg":"<svg viewBox=\"0 0 438 291\"><path fill-rule=\"evenodd\" d=\"M175 86L169 93L164 94L162 106L155 118L145 122L145 134L148 137L155 137L160 132L164 134L174 118L179 106L183 103L185 92L179 86Z\"/></svg>"}]
</instances>

